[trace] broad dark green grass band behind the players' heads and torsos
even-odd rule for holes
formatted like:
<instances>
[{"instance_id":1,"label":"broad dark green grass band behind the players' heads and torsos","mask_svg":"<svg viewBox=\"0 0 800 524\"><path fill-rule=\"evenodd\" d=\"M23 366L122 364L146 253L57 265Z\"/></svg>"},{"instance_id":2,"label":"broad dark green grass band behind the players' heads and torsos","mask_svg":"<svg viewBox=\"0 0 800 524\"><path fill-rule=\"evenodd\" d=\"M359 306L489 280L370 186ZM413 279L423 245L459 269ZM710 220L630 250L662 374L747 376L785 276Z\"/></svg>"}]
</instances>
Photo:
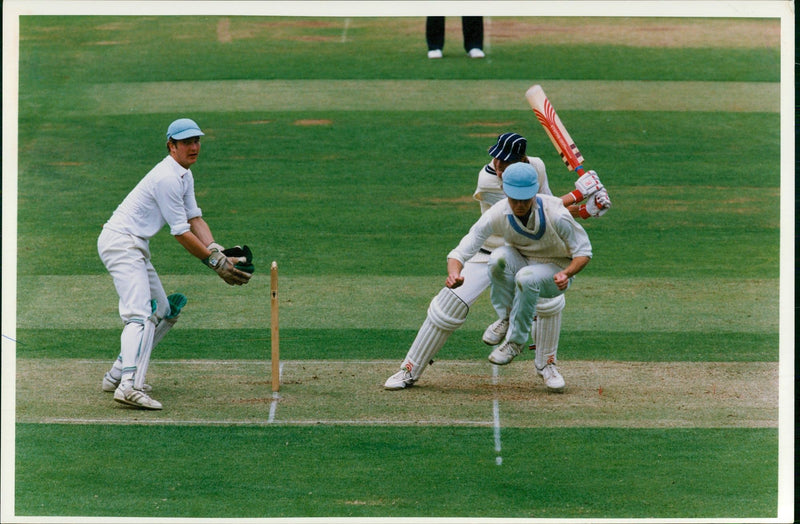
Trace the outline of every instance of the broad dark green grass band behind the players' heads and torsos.
<instances>
[{"instance_id":1,"label":"broad dark green grass band behind the players' heads and torsos","mask_svg":"<svg viewBox=\"0 0 800 524\"><path fill-rule=\"evenodd\" d=\"M492 130L502 129L485 122L531 136L553 191L572 188L529 113L270 113L264 125L242 124L264 114L198 115L214 129L193 168L198 199L221 242L257 246L256 256L280 260L284 274L320 267L327 274L443 274L447 252L477 218L467 196L489 158ZM293 125L321 116L333 123ZM575 111L563 118L582 124L574 135L587 165L614 188L614 220L585 223L596 255L587 274L667 278L691 266L703 278L777 278L778 115ZM50 130L21 122L19 245L74 255L21 264L21 275L103 274L93 236L164 154L153 129L168 118L124 120L70 118ZM434 120L439 125L429 125ZM111 171L98 135L121 146ZM432 161L416 153L430 143L437 144ZM621 237L626 242L615 242ZM297 249L297 239L314 249ZM168 235L153 240L156 260L169 260L160 265L164 273L197 265L181 251ZM739 257L747 264L718 263Z\"/></svg>"}]
</instances>

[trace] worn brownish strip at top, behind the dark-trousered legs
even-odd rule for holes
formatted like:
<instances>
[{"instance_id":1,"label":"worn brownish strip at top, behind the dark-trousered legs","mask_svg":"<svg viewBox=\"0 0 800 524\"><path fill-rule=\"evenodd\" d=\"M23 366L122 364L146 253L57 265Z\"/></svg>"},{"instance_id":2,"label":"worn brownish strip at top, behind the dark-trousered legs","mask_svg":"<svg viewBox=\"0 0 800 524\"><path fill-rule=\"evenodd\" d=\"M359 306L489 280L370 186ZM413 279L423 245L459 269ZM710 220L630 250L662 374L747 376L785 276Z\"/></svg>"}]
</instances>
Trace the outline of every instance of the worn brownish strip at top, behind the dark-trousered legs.
<instances>
[{"instance_id":1,"label":"worn brownish strip at top, behind the dark-trousered legs","mask_svg":"<svg viewBox=\"0 0 800 524\"><path fill-rule=\"evenodd\" d=\"M415 37L424 44L424 17L377 18L222 18L217 39L341 42L357 30ZM348 31L349 30L349 31ZM462 39L461 23L450 17L445 41ZM648 17L485 17L488 46L505 42L535 45L624 45L634 47L759 48L780 45L780 21L755 18L648 18ZM419 35L423 35L420 37Z\"/></svg>"}]
</instances>

